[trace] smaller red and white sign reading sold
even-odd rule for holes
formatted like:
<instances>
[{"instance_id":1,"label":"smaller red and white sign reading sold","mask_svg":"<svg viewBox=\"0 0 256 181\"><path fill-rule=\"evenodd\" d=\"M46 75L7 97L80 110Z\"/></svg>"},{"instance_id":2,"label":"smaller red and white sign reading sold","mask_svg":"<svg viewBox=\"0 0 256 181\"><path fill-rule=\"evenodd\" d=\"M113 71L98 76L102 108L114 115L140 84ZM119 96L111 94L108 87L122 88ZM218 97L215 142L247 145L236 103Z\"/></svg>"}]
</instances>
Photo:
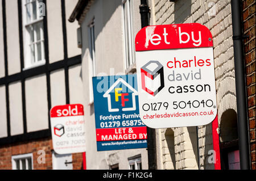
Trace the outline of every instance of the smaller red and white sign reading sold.
<instances>
[{"instance_id":1,"label":"smaller red and white sign reading sold","mask_svg":"<svg viewBox=\"0 0 256 181\"><path fill-rule=\"evenodd\" d=\"M85 152L85 121L82 104L55 106L50 111L52 145L57 154Z\"/></svg>"}]
</instances>

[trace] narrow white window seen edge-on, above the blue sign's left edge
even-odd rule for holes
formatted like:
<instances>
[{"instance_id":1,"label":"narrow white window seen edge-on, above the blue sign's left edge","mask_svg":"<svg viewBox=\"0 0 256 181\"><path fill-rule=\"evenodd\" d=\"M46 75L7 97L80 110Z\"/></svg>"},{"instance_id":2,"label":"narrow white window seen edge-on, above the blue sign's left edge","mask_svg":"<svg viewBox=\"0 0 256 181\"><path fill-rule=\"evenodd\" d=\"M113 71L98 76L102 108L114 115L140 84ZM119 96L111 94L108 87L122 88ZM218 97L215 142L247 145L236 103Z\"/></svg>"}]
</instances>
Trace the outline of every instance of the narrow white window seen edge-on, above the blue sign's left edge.
<instances>
[{"instance_id":1,"label":"narrow white window seen edge-on, above the blue sign's left edge","mask_svg":"<svg viewBox=\"0 0 256 181\"><path fill-rule=\"evenodd\" d=\"M89 24L89 49L90 49L90 60L89 60L89 102L93 103L93 85L92 77L96 76L96 62L95 62L95 34L94 34L94 19Z\"/></svg>"}]
</instances>

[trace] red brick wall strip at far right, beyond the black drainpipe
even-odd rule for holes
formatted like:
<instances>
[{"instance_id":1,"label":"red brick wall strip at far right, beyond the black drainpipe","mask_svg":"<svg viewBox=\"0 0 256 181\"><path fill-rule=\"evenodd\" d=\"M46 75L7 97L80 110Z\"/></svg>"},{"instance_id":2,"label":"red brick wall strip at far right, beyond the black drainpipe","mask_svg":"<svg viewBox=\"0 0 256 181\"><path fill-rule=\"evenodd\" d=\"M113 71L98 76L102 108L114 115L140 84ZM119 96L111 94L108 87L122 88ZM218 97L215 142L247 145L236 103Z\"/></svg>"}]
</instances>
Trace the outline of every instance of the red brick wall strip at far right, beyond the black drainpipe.
<instances>
[{"instance_id":1,"label":"red brick wall strip at far right, beyond the black drainpipe","mask_svg":"<svg viewBox=\"0 0 256 181\"><path fill-rule=\"evenodd\" d=\"M250 127L251 168L255 170L255 1L242 1L245 43L247 102Z\"/></svg>"}]
</instances>

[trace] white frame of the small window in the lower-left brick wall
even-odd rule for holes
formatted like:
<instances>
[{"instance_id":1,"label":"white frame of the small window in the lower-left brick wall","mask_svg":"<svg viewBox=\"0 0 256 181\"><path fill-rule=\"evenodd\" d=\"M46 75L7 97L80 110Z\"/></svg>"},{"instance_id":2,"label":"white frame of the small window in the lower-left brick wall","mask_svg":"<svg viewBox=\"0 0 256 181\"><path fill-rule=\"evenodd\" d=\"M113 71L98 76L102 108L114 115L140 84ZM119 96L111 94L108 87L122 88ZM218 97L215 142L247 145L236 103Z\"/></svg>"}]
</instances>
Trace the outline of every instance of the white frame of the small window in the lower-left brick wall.
<instances>
[{"instance_id":1,"label":"white frame of the small window in the lower-left brick wall","mask_svg":"<svg viewBox=\"0 0 256 181\"><path fill-rule=\"evenodd\" d=\"M11 167L13 170L28 170L28 158L31 159L31 170L34 170L33 167L33 154L19 154L11 156ZM22 160L25 159L26 169L20 169L22 167ZM19 161L19 169L17 168L16 161Z\"/></svg>"}]
</instances>

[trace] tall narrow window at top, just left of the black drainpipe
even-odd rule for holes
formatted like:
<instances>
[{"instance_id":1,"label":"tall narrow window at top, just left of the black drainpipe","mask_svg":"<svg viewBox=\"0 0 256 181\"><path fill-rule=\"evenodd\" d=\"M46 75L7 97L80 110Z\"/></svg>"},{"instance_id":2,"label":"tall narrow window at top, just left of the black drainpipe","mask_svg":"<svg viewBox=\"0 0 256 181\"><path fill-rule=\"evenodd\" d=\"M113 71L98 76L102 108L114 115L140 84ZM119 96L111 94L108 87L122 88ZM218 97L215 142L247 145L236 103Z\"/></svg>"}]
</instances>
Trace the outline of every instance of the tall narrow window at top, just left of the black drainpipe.
<instances>
[{"instance_id":1,"label":"tall narrow window at top, just left of the black drainpipe","mask_svg":"<svg viewBox=\"0 0 256 181\"><path fill-rule=\"evenodd\" d=\"M123 0L123 20L124 20L124 39L125 39L125 69L129 69L134 63L134 41L132 34L132 21L130 0Z\"/></svg>"}]
</instances>

